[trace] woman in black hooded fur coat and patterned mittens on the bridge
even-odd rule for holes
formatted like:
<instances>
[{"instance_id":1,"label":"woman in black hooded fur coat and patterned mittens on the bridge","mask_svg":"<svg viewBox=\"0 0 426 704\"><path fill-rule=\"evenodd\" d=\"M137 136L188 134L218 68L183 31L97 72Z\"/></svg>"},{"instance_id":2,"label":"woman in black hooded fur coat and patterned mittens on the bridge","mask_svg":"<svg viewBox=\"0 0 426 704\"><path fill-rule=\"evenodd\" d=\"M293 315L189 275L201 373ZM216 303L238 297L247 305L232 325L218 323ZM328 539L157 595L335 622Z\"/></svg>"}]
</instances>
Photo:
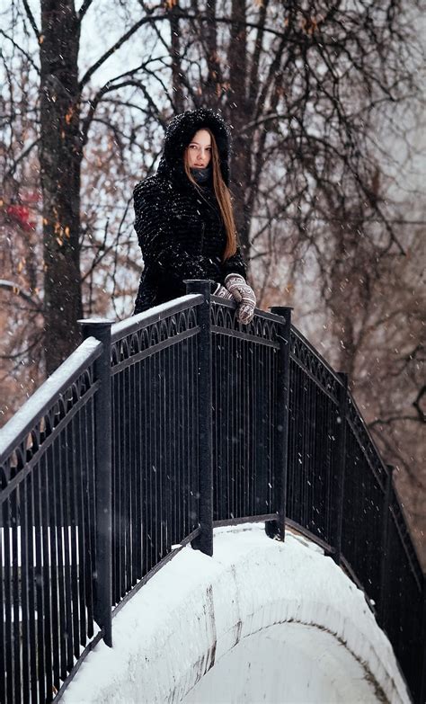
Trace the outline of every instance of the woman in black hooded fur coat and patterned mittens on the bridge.
<instances>
[{"instance_id":1,"label":"woman in black hooded fur coat and patterned mittens on the bridge","mask_svg":"<svg viewBox=\"0 0 426 704\"><path fill-rule=\"evenodd\" d=\"M135 314L185 293L187 279L214 281L212 292L238 302L250 323L256 298L245 282L229 183L230 138L204 108L170 122L155 176L134 191L135 229L144 258Z\"/></svg>"}]
</instances>

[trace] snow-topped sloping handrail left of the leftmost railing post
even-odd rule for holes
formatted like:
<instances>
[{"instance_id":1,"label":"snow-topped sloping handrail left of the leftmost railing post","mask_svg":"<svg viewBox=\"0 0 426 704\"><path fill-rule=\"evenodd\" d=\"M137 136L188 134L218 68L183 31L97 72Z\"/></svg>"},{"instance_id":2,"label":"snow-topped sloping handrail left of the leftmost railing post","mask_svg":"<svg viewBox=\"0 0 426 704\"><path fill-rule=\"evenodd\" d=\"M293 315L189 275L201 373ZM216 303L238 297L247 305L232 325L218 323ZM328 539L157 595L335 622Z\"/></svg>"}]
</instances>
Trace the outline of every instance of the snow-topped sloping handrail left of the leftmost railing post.
<instances>
[{"instance_id":1,"label":"snow-topped sloping handrail left of the leftmost railing post","mask_svg":"<svg viewBox=\"0 0 426 704\"><path fill-rule=\"evenodd\" d=\"M0 457L8 455L31 432L49 407L102 353L102 343L87 338L0 428Z\"/></svg>"}]
</instances>

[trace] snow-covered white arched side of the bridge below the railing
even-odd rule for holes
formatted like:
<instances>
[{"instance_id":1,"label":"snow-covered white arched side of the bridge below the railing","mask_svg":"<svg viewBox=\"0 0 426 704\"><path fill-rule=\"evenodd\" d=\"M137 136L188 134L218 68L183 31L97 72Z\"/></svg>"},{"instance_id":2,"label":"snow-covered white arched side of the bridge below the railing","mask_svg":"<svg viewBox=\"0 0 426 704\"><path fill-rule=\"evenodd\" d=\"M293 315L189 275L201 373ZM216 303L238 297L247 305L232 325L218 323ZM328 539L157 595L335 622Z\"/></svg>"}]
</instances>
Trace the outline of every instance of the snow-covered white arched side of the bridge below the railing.
<instances>
[{"instance_id":1,"label":"snow-covered white arched side of the bridge below the railing","mask_svg":"<svg viewBox=\"0 0 426 704\"><path fill-rule=\"evenodd\" d=\"M409 702L364 595L323 551L262 524L215 530L113 619L63 701Z\"/></svg>"}]
</instances>

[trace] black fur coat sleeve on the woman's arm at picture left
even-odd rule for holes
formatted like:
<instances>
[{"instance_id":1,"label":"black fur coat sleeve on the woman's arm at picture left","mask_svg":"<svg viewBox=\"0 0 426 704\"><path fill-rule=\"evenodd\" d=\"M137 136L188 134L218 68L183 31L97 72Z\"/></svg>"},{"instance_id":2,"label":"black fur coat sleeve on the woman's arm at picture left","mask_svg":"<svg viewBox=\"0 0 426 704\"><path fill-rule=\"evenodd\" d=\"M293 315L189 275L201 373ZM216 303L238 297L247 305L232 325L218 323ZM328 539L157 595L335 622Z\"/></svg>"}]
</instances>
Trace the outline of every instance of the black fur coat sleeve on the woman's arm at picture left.
<instances>
[{"instance_id":1,"label":"black fur coat sleeve on the woman's arm at picture left","mask_svg":"<svg viewBox=\"0 0 426 704\"><path fill-rule=\"evenodd\" d=\"M178 281L220 278L208 257L189 254L173 235L167 194L156 183L138 183L134 192L135 229L146 267L155 264Z\"/></svg>"}]
</instances>

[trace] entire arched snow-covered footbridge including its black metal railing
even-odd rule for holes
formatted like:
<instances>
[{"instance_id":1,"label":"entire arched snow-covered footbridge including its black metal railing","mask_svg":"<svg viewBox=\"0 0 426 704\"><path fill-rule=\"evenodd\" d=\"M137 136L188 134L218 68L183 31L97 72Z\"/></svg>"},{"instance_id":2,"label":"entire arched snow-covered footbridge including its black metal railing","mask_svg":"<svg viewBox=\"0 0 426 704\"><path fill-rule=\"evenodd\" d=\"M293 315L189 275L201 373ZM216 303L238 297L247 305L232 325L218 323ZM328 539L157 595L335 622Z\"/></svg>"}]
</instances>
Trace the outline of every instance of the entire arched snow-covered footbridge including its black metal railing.
<instances>
[{"instance_id":1,"label":"entire arched snow-covered footbridge including its black metal railing","mask_svg":"<svg viewBox=\"0 0 426 704\"><path fill-rule=\"evenodd\" d=\"M84 334L0 437L0 700L422 702L392 468L290 309Z\"/></svg>"}]
</instances>

